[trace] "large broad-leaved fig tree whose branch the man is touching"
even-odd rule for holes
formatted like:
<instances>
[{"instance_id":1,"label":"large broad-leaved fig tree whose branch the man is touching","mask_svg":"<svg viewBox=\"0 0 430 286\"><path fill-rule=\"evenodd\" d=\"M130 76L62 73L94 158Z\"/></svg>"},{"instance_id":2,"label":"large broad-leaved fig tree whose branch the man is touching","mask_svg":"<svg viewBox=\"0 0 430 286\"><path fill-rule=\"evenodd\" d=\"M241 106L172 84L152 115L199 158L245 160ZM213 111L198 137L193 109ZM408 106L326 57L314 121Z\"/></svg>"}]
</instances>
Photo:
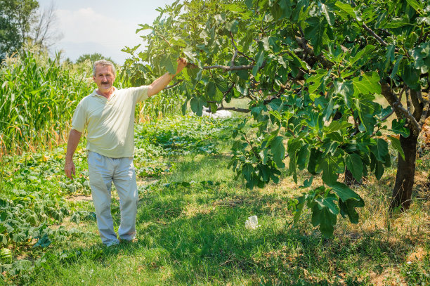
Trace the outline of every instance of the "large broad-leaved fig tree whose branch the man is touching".
<instances>
[{"instance_id":1,"label":"large broad-leaved fig tree whose branch the man is touching","mask_svg":"<svg viewBox=\"0 0 430 286\"><path fill-rule=\"evenodd\" d=\"M174 72L185 56L189 68L174 84L184 107L252 115L252 131L245 119L235 132L231 161L247 187L277 183L289 157L294 181L297 169L310 175L295 218L307 205L313 226L330 236L338 214L357 223L364 205L339 174L381 178L391 144L399 157L392 206L408 208L416 136L429 116L429 1L190 0L159 11L138 29L151 30L148 48L128 49L129 67ZM386 108L375 100L381 95ZM224 107L232 98L249 98L249 108ZM323 185L311 187L319 174Z\"/></svg>"}]
</instances>

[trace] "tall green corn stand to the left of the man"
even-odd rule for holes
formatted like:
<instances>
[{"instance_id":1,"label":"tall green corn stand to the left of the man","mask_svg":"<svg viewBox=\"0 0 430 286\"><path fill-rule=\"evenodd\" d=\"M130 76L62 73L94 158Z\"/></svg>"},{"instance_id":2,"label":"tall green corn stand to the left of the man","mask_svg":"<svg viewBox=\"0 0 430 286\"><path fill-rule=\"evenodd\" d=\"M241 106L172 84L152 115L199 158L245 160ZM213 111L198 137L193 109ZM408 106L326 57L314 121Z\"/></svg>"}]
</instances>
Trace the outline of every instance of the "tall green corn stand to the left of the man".
<instances>
[{"instance_id":1,"label":"tall green corn stand to the left of the man","mask_svg":"<svg viewBox=\"0 0 430 286\"><path fill-rule=\"evenodd\" d=\"M63 141L75 106L91 88L59 55L32 51L8 58L0 82L0 155Z\"/></svg>"}]
</instances>

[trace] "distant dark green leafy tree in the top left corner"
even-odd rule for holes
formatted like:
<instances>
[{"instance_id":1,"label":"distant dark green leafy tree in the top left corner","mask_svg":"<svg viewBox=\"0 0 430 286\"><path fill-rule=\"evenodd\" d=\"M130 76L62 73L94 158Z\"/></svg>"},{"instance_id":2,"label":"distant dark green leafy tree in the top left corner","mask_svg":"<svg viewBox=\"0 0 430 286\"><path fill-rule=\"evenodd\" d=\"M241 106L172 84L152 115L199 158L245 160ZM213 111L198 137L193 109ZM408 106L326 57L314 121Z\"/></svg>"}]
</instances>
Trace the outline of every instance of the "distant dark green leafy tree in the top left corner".
<instances>
[{"instance_id":1,"label":"distant dark green leafy tree in the top left corner","mask_svg":"<svg viewBox=\"0 0 430 286\"><path fill-rule=\"evenodd\" d=\"M37 8L35 0L0 0L0 60L18 51L29 37Z\"/></svg>"}]
</instances>

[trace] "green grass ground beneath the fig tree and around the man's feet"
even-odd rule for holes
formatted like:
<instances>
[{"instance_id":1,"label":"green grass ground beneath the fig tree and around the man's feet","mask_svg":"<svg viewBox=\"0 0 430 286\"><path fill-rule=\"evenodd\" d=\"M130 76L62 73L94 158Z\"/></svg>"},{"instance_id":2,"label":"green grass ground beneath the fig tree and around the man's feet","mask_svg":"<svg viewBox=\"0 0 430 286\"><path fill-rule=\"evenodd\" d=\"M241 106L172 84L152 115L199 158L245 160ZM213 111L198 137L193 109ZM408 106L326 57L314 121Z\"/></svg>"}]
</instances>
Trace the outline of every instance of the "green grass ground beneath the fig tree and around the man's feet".
<instances>
[{"instance_id":1,"label":"green grass ground beneath the fig tree and around the man's feet","mask_svg":"<svg viewBox=\"0 0 430 286\"><path fill-rule=\"evenodd\" d=\"M297 227L292 226L288 205L301 193L292 178L282 176L278 185L247 190L242 180L235 180L233 171L226 169L229 156L224 135L230 132L228 126L234 125L234 121L224 122L226 127L221 128L213 119L209 128L210 124L201 120L211 119L179 119L165 118L138 129L136 138L145 144L136 142L141 146L136 150L136 169L162 169L155 173L148 171L138 178L138 241L103 247L95 221L77 224L65 219L50 227L78 228L81 233L54 240L43 251L30 249L32 257L43 257L30 273L32 285L428 285L430 282L430 203L424 185L417 185L414 202L407 212L389 216L387 208L395 170L387 170L380 181L365 181L357 188L366 202L359 210L360 223L353 225L340 219L334 238L326 240L311 226L308 212ZM175 152L160 151L157 142L166 148L174 146L163 141L162 136L172 126L177 127L176 136L186 136L190 144L176 146ZM202 132L194 132L193 126L199 126ZM154 129L159 132L152 132ZM216 132L211 132L215 129ZM143 130L145 136L140 138ZM201 134L205 134L204 138ZM202 145L202 141L207 145ZM204 148L213 143L216 151ZM428 151L423 152L417 177L426 177L429 157ZM85 160L79 163L79 168L86 169ZM305 174L299 175L302 181ZM93 210L91 201L69 198L67 204L74 210ZM115 192L112 212L117 228L119 202ZM245 221L252 215L258 216L260 226L248 230Z\"/></svg>"}]
</instances>

